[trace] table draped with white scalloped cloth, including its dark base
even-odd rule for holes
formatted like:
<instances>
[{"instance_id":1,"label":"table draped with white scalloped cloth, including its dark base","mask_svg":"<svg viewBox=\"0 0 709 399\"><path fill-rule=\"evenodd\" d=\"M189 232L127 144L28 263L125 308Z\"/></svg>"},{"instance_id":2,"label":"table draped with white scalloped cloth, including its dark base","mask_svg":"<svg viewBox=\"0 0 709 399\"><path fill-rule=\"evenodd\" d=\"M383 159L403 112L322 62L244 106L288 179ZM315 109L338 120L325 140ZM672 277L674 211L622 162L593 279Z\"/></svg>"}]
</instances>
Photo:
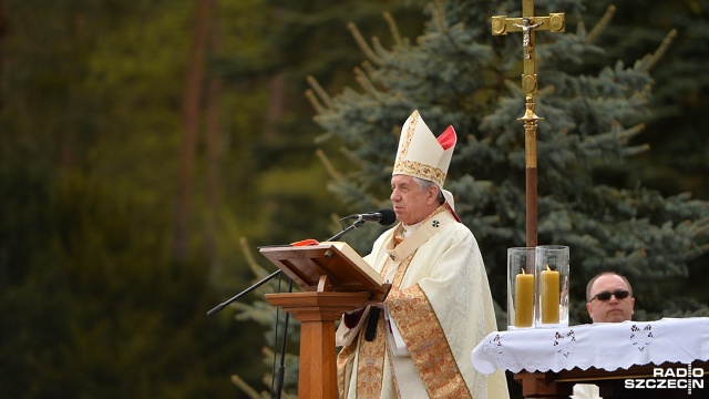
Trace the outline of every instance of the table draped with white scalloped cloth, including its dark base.
<instances>
[{"instance_id":1,"label":"table draped with white scalloped cloth, including its dark base","mask_svg":"<svg viewBox=\"0 0 709 399\"><path fill-rule=\"evenodd\" d=\"M709 318L491 332L471 360L483 374L514 372L526 398L567 398L579 382L598 385L604 398L706 398Z\"/></svg>"}]
</instances>

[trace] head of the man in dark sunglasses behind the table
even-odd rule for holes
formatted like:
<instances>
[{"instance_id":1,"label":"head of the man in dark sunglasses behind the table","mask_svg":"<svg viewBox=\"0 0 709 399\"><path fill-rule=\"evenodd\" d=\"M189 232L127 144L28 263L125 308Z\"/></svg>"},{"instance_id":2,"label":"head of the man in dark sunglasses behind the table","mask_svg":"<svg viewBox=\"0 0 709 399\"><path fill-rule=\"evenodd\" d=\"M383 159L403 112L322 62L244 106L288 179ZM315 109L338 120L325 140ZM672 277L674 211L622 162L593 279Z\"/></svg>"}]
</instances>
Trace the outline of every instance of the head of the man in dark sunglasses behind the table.
<instances>
[{"instance_id":1,"label":"head of the man in dark sunglasses behind the table","mask_svg":"<svg viewBox=\"0 0 709 399\"><path fill-rule=\"evenodd\" d=\"M633 288L617 273L604 272L592 278L586 286L586 310L594 323L619 323L633 318Z\"/></svg>"}]
</instances>

